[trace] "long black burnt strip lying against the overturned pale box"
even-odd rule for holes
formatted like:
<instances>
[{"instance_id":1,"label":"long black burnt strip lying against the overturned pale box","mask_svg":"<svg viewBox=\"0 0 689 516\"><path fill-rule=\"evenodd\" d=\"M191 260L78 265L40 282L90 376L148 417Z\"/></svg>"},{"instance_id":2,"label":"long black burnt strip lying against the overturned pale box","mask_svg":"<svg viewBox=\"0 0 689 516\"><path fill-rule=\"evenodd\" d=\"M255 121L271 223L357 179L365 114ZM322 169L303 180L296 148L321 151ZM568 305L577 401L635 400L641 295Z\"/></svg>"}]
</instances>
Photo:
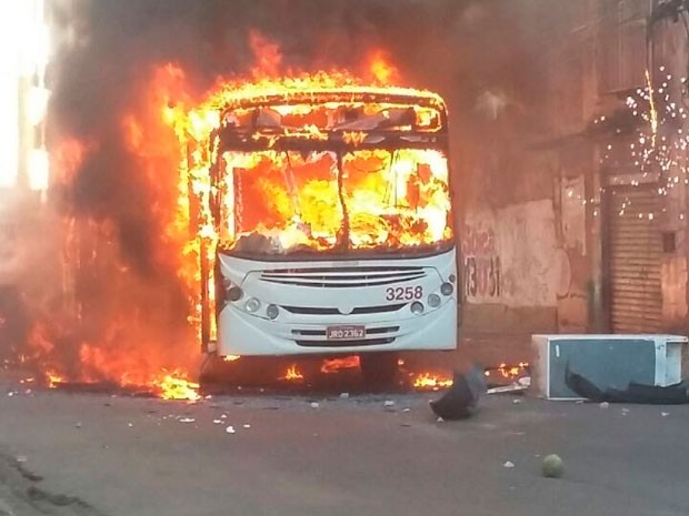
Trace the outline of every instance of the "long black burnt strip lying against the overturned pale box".
<instances>
[{"instance_id":1,"label":"long black burnt strip lying against the overturned pale box","mask_svg":"<svg viewBox=\"0 0 689 516\"><path fill-rule=\"evenodd\" d=\"M683 381L668 386L642 385L630 382L626 389L607 388L602 391L591 381L565 367L565 383L579 396L591 402L637 403L647 405L681 405L689 403L689 382Z\"/></svg>"}]
</instances>

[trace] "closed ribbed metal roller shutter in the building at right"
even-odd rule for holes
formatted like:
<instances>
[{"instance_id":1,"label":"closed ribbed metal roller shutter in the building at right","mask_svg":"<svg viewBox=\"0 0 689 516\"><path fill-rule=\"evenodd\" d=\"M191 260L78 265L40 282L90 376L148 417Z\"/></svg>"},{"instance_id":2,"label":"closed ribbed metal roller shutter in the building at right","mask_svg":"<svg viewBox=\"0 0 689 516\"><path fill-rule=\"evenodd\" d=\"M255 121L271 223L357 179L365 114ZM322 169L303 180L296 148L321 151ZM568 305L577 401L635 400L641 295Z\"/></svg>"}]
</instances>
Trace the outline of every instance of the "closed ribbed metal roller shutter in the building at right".
<instances>
[{"instance_id":1,"label":"closed ribbed metal roller shutter in the building at right","mask_svg":"<svg viewBox=\"0 0 689 516\"><path fill-rule=\"evenodd\" d=\"M657 190L612 191L609 221L610 315L615 333L658 333L662 327Z\"/></svg>"}]
</instances>

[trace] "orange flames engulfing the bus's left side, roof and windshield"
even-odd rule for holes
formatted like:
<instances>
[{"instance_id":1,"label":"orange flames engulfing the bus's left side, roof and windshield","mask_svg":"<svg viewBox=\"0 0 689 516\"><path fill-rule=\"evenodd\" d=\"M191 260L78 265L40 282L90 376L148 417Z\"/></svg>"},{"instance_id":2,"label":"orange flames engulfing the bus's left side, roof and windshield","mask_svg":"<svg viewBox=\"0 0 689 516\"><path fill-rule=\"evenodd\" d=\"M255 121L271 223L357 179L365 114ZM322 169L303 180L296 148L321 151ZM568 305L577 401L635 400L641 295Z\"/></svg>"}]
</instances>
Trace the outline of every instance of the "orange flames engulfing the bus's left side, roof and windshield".
<instances>
[{"instance_id":1,"label":"orange flames engulfing the bus's left side, roof and windshield","mask_svg":"<svg viewBox=\"0 0 689 516\"><path fill-rule=\"evenodd\" d=\"M30 346L22 357L38 363L50 385L62 381L107 381L148 386L164 398L197 399L198 386L190 380L190 364L200 355L202 312L209 308L213 313L214 295L212 267L202 280L200 264L211 263L218 242L233 246L242 236L259 234L276 239L282 249L328 249L337 239L342 216L342 211L336 211L331 203L342 202L349 212L353 249L383 243L415 246L451 236L447 220L447 162L439 151L349 153L342 163L348 176L343 199L337 199L333 156L328 152L304 155L267 149L256 154L234 152L219 156L213 131L223 122L223 112L228 113L223 110L234 105L232 114L241 114L243 108L238 99L248 97L280 98L304 90L356 92L362 87L385 94L422 94L430 99L427 107L407 107L412 111L411 123L429 131L437 123L439 111L435 105L440 107L441 100L387 84L399 80L399 72L386 61L385 52L371 52L358 73L303 73L286 70L280 49L260 33L251 33L250 45L256 53L256 67L248 75L219 79L209 92L199 94L184 70L172 63L162 64L150 71L148 88L131 109L118 113L119 135L140 170L131 189L146 192L142 199L154 225L150 233L156 243L146 250L147 262L153 267L150 284L143 284L148 280L142 281L141 274L122 259L123 250L118 244L122 229L107 216L79 212L69 204L67 195L59 231L64 264L60 289L64 302L57 310L46 303L37 311L40 323L31 332ZM386 103L359 108L368 119L379 121L391 112L391 105ZM286 133L304 140L323 138L323 115L328 115L328 107L310 110L306 103L282 107L280 111ZM403 124L409 120L400 118L397 123L399 130L406 130ZM367 130L355 123L343 138L358 144L366 140ZM59 134L51 145L52 188L72 191L83 163L106 144ZM223 220L243 210L243 226L236 234L229 224L223 224L218 233L212 223L211 199L222 193L211 182L213 162L219 162L227 173L231 169L232 173L246 174L242 195L223 198ZM293 183L283 180L280 170L284 168L293 171ZM259 205L266 206L262 212L252 211L252 206ZM174 328L166 327L170 323L164 314L173 311L166 305L166 292L160 292L171 285L163 287L156 280L166 271L173 271L174 289L188 300L187 321L179 321ZM89 277L98 282L109 277L107 295L84 295ZM153 306L156 311L149 312L148 307ZM212 338L212 322L208 331ZM182 344L172 345L168 342L170 335ZM73 361L63 358L66 350ZM298 375L297 371L292 373Z\"/></svg>"}]
</instances>

